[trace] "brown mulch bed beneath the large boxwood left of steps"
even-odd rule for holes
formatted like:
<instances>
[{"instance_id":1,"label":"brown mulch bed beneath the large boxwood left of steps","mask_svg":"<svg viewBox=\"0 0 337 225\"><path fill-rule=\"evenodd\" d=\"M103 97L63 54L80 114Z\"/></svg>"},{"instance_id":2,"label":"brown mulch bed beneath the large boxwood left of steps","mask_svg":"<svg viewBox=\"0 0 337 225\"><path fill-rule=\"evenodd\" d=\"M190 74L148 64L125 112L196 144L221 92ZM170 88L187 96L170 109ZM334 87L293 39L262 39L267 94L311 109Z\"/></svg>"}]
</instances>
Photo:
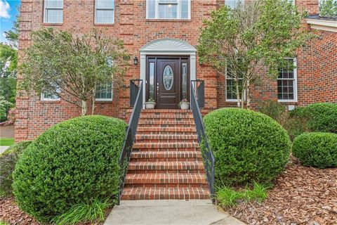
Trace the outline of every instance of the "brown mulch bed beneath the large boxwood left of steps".
<instances>
[{"instance_id":1,"label":"brown mulch bed beneath the large boxwood left of steps","mask_svg":"<svg viewBox=\"0 0 337 225\"><path fill-rule=\"evenodd\" d=\"M110 214L112 209L108 209L105 213L106 217ZM40 225L33 217L30 217L25 212L22 212L18 205L16 205L13 197L0 198L0 221L6 221L11 225ZM97 223L79 223L78 225L101 225L103 222Z\"/></svg>"}]
</instances>

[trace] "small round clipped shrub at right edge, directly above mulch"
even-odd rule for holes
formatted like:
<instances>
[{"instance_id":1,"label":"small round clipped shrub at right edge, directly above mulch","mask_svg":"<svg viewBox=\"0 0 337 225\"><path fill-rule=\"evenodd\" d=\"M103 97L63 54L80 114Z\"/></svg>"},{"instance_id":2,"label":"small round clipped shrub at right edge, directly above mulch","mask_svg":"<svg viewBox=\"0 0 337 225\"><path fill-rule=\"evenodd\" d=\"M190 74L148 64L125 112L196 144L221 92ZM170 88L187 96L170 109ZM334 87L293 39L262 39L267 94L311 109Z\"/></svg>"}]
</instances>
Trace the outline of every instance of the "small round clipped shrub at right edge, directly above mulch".
<instances>
[{"instance_id":1,"label":"small round clipped shrub at right edge, directly above mulch","mask_svg":"<svg viewBox=\"0 0 337 225\"><path fill-rule=\"evenodd\" d=\"M305 166L337 167L337 134L301 134L293 141L292 151Z\"/></svg>"}]
</instances>

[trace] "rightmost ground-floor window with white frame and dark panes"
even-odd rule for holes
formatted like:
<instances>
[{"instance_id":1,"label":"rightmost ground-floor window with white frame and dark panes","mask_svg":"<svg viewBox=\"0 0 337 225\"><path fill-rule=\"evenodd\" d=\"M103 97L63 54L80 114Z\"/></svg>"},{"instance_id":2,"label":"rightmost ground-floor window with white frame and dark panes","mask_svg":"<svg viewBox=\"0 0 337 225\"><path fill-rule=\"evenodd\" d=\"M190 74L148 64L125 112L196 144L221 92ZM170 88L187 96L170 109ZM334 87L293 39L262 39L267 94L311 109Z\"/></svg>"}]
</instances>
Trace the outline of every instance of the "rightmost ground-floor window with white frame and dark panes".
<instances>
[{"instance_id":1,"label":"rightmost ground-floor window with white frame and dark panes","mask_svg":"<svg viewBox=\"0 0 337 225\"><path fill-rule=\"evenodd\" d=\"M297 101L296 58L287 58L289 65L279 69L277 77L277 98L280 102Z\"/></svg>"}]
</instances>

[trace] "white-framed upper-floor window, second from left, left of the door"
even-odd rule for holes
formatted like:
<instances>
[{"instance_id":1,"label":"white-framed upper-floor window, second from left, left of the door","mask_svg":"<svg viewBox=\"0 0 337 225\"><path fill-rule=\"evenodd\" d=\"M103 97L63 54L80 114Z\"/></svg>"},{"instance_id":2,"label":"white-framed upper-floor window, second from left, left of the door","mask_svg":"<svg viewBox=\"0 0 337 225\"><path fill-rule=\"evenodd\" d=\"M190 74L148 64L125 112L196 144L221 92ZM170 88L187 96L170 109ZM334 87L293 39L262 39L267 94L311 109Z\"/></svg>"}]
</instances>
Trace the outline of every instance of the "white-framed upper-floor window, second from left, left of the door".
<instances>
[{"instance_id":1,"label":"white-framed upper-floor window, second from left, left of the door","mask_svg":"<svg viewBox=\"0 0 337 225\"><path fill-rule=\"evenodd\" d=\"M114 0L95 0L95 23L114 23Z\"/></svg>"}]
</instances>

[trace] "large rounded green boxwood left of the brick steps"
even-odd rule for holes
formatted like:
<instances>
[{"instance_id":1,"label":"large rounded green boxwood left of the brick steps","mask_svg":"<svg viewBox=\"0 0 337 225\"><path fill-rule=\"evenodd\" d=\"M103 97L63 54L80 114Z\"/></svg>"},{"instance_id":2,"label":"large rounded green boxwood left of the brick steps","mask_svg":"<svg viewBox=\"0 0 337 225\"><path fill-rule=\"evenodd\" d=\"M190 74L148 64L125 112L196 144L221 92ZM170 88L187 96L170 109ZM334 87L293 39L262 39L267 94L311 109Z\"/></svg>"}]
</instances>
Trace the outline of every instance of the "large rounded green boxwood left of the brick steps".
<instances>
[{"instance_id":1,"label":"large rounded green boxwood left of the brick steps","mask_svg":"<svg viewBox=\"0 0 337 225\"><path fill-rule=\"evenodd\" d=\"M45 131L22 153L13 172L19 207L48 221L72 205L116 195L125 130L123 120L84 116Z\"/></svg>"}]
</instances>

